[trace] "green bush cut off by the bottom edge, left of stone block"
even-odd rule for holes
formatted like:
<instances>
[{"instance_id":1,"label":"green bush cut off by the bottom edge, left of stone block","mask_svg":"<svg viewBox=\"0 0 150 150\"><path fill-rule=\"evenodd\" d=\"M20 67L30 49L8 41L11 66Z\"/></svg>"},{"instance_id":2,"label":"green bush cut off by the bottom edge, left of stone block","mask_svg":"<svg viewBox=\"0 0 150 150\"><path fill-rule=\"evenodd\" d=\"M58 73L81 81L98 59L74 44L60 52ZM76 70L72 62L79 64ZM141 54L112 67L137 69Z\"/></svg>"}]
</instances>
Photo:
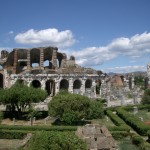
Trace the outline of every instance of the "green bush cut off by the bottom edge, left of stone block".
<instances>
[{"instance_id":1,"label":"green bush cut off by the bottom edge, left of stone block","mask_svg":"<svg viewBox=\"0 0 150 150\"><path fill-rule=\"evenodd\" d=\"M73 132L38 132L26 150L87 150L85 142Z\"/></svg>"}]
</instances>

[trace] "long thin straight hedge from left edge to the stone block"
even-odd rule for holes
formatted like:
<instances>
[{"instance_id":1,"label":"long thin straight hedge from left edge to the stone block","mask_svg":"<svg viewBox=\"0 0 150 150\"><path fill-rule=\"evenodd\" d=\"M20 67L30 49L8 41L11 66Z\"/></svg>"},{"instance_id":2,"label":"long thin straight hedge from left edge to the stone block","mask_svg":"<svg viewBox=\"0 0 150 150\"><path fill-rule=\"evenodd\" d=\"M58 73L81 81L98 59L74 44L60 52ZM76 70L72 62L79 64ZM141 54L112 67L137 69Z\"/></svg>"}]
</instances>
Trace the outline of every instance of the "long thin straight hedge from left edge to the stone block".
<instances>
[{"instance_id":1,"label":"long thin straight hedge from left edge to the stone block","mask_svg":"<svg viewBox=\"0 0 150 150\"><path fill-rule=\"evenodd\" d=\"M0 125L0 129L26 130L26 131L76 131L77 126L9 126Z\"/></svg>"}]
</instances>

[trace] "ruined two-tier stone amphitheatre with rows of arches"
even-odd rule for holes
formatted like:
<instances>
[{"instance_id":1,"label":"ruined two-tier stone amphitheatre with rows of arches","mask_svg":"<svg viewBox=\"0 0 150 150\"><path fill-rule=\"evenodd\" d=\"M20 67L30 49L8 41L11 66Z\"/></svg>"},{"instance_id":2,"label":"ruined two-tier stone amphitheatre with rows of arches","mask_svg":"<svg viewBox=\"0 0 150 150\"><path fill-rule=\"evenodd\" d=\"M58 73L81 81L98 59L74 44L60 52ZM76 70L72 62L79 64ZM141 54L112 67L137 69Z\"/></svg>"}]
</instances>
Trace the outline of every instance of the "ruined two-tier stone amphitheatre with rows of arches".
<instances>
[{"instance_id":1,"label":"ruined two-tier stone amphitheatre with rows of arches","mask_svg":"<svg viewBox=\"0 0 150 150\"><path fill-rule=\"evenodd\" d=\"M61 89L70 93L96 97L97 71L75 63L75 57L67 59L56 47L13 49L1 51L0 87L9 88L16 81L28 86L45 89L50 96ZM99 84L100 85L100 84Z\"/></svg>"}]
</instances>

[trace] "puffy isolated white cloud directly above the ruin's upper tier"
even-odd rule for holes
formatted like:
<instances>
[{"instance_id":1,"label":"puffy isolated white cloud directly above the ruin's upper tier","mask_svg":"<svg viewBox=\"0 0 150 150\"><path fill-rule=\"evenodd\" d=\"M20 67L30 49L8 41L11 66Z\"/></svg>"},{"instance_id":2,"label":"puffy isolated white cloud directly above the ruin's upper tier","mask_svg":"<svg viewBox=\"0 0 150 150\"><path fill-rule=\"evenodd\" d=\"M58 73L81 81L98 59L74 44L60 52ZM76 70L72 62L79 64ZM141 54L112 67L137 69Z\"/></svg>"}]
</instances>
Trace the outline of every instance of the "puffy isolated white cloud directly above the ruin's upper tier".
<instances>
[{"instance_id":1,"label":"puffy isolated white cloud directly above the ruin's upper tier","mask_svg":"<svg viewBox=\"0 0 150 150\"><path fill-rule=\"evenodd\" d=\"M75 43L75 39L70 30L58 31L55 28L44 30L30 29L15 36L15 41L21 44L32 46L56 46L69 47Z\"/></svg>"}]
</instances>

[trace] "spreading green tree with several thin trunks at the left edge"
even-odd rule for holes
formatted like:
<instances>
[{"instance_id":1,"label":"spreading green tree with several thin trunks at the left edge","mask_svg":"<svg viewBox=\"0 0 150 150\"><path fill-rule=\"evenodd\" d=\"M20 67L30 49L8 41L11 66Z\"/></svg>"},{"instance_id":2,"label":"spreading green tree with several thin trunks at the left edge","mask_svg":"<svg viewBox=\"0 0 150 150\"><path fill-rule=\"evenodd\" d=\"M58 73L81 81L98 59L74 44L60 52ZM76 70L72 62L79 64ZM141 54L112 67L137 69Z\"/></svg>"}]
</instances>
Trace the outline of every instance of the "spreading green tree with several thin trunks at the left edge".
<instances>
[{"instance_id":1,"label":"spreading green tree with several thin trunks at the left edge","mask_svg":"<svg viewBox=\"0 0 150 150\"><path fill-rule=\"evenodd\" d=\"M16 83L9 89L0 90L0 101L4 105L9 105L10 111L18 111L21 114L31 103L43 101L47 92L39 88L28 87Z\"/></svg>"}]
</instances>

